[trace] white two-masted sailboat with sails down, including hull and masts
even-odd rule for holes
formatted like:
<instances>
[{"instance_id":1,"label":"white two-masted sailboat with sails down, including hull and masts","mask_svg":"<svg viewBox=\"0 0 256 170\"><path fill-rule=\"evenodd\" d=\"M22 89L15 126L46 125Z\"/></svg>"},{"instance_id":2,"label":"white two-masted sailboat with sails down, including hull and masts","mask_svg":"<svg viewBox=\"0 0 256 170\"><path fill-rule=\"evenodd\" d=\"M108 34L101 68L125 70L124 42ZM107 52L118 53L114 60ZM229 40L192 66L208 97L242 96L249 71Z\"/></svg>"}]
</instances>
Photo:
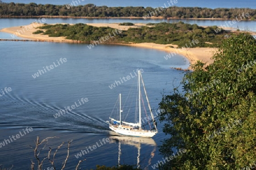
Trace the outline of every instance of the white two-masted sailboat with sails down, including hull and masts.
<instances>
[{"instance_id":1,"label":"white two-masted sailboat with sails down, including hull and masts","mask_svg":"<svg viewBox=\"0 0 256 170\"><path fill-rule=\"evenodd\" d=\"M142 129L142 109L141 109L141 101L143 101L141 99L142 95L141 95L141 82L143 85L143 89L144 89L144 95L146 96L147 99L147 104L148 104L148 108L151 114L151 118L152 118L152 122L153 122L153 127L151 128L150 125L150 130L146 130L146 129ZM122 109L121 109L121 94L119 94L119 120L115 120L114 118L110 118L110 122L109 122L109 128L113 131L115 131L116 133L119 134L123 134L123 135L130 135L130 136L135 136L135 137L148 137L151 138L153 137L156 133L158 133L158 130L156 129L156 122L154 120L154 116L152 114L151 111L151 107L148 101L148 97L147 97L147 93L146 93L146 89L144 87L144 82L141 76L141 71L138 70L138 105L139 105L139 122L137 123L132 123L132 122L125 122L122 121ZM150 120L149 118L147 118L147 120ZM149 121L148 121L149 123Z\"/></svg>"}]
</instances>

